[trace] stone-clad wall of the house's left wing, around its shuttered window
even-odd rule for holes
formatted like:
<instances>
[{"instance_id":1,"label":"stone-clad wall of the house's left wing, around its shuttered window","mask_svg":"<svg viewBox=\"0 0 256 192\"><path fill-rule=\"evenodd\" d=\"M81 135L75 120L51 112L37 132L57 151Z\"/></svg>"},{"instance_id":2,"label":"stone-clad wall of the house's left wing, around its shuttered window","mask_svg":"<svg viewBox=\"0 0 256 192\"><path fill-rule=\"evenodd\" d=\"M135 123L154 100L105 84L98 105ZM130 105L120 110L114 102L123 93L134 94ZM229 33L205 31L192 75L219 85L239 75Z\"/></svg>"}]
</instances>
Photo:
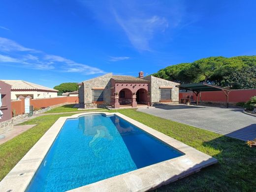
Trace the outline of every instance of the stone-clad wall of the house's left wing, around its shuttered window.
<instances>
[{"instance_id":1,"label":"stone-clad wall of the house's left wing, around its shuttered window","mask_svg":"<svg viewBox=\"0 0 256 192\"><path fill-rule=\"evenodd\" d=\"M112 73L84 81L84 107L94 108L108 106L111 102L111 83ZM102 103L93 103L93 88L104 88L104 98ZM82 89L81 89L82 91ZM80 95L80 92L79 92ZM80 105L83 104L80 102Z\"/></svg>"}]
</instances>

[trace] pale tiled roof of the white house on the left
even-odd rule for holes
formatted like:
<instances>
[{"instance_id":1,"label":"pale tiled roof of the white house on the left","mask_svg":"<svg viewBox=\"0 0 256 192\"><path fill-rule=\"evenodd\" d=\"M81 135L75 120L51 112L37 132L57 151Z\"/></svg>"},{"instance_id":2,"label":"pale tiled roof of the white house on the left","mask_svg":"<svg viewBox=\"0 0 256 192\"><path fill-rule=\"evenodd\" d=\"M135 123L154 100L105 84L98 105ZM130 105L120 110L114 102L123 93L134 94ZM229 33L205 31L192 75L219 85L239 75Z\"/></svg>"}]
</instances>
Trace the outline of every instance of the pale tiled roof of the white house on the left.
<instances>
[{"instance_id":1,"label":"pale tiled roof of the white house on the left","mask_svg":"<svg viewBox=\"0 0 256 192\"><path fill-rule=\"evenodd\" d=\"M11 85L11 90L22 90L22 91L47 91L47 92L59 92L58 90L30 83L23 80L0 80L4 83Z\"/></svg>"}]
</instances>

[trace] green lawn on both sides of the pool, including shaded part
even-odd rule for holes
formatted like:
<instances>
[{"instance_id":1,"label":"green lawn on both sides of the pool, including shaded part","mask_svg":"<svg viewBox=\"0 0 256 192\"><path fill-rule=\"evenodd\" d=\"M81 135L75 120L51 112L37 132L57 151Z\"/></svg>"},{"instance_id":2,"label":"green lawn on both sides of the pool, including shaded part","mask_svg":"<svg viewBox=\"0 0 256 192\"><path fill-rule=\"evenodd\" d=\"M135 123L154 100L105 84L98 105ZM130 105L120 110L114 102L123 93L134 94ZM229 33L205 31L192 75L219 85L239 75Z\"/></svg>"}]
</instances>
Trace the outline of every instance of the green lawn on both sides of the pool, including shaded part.
<instances>
[{"instance_id":1,"label":"green lawn on both sides of the pool, including shaded part","mask_svg":"<svg viewBox=\"0 0 256 192\"><path fill-rule=\"evenodd\" d=\"M165 120L134 109L123 109L118 112L219 160L217 164L204 168L198 173L160 187L156 190L157 192L256 191L256 148L250 148L245 142L237 139ZM0 179L59 117L69 115L71 114L41 116L25 122L24 124L38 125L0 145Z\"/></svg>"}]
</instances>

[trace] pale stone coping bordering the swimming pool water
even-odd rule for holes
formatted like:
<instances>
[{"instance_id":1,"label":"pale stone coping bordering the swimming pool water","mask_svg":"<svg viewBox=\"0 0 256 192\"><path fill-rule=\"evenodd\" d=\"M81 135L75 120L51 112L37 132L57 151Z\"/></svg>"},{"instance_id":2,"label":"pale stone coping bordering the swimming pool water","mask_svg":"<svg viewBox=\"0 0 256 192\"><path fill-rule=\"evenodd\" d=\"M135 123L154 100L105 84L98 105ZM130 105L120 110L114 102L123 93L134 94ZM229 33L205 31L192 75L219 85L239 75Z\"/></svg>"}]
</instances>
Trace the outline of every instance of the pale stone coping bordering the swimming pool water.
<instances>
[{"instance_id":1,"label":"pale stone coping bordering the swimming pool water","mask_svg":"<svg viewBox=\"0 0 256 192\"><path fill-rule=\"evenodd\" d=\"M53 144L56 136L63 127L65 121L70 118L78 118L79 116L88 114L117 115L118 117L128 121L134 126L146 131L154 137L160 139L164 143L176 148L185 155L165 160L150 166L146 166L128 173L117 175L108 179L98 181L86 186L82 186L69 192L144 192L153 190L162 185L174 182L194 172L198 172L201 168L217 163L218 160L204 154L176 139L173 139L153 128L139 123L121 113L109 112L84 112L68 117L60 117L51 128L35 143L30 151L13 167L13 169L0 182L2 192L24 192L29 186L33 175L40 166L42 160Z\"/></svg>"}]
</instances>

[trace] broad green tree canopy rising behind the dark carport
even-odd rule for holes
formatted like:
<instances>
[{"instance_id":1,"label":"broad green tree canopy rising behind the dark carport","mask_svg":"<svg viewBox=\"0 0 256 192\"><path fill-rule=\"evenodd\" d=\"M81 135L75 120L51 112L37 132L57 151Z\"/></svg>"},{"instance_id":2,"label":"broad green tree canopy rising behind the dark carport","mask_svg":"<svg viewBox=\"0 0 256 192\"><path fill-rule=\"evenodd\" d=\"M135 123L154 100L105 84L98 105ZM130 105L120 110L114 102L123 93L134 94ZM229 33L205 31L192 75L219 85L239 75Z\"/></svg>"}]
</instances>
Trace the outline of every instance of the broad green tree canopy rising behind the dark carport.
<instances>
[{"instance_id":1,"label":"broad green tree canopy rising behind the dark carport","mask_svg":"<svg viewBox=\"0 0 256 192\"><path fill-rule=\"evenodd\" d=\"M256 66L256 56L238 56L238 57L209 57L197 60L192 63L182 63L167 66L160 69L153 76L174 81L177 83L199 83L207 82L223 87L238 89L237 84L243 81L241 78L232 78L236 73L239 76L251 79L252 86L256 88L254 72L250 69ZM243 75L242 75L243 74ZM232 79L232 80L231 80ZM239 89L247 89L248 86L240 86Z\"/></svg>"}]
</instances>

